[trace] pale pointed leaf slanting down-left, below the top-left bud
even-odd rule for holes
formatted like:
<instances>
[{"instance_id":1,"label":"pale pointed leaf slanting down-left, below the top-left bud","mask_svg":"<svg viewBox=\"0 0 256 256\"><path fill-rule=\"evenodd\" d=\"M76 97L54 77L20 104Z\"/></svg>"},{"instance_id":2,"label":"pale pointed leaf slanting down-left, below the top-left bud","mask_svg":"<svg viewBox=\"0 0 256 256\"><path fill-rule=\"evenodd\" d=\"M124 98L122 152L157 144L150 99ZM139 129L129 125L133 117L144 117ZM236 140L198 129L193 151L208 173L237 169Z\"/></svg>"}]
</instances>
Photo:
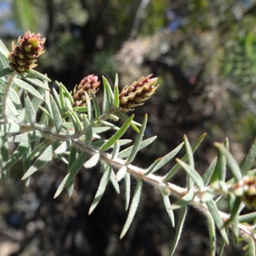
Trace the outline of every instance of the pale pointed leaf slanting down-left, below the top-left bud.
<instances>
[{"instance_id":1,"label":"pale pointed leaf slanting down-left, below the top-left bud","mask_svg":"<svg viewBox=\"0 0 256 256\"><path fill-rule=\"evenodd\" d=\"M35 163L29 168L29 170L23 175L22 180L31 176L34 172L36 172L41 166L48 163L52 160L52 153L58 147L58 141L54 141L51 145L49 145L44 152L36 159Z\"/></svg>"}]
</instances>

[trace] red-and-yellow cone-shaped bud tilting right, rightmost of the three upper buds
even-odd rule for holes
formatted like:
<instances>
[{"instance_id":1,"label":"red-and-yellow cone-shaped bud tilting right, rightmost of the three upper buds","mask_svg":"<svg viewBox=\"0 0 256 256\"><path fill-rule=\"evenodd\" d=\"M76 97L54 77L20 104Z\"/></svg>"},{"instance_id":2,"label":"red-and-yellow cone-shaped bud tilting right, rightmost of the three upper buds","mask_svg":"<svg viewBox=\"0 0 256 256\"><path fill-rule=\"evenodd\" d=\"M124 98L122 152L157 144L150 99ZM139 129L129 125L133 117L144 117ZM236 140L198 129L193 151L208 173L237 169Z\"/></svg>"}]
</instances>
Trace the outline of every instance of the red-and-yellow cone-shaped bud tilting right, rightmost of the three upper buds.
<instances>
[{"instance_id":1,"label":"red-and-yellow cone-shaped bud tilting right, rightmost of the three upper buds","mask_svg":"<svg viewBox=\"0 0 256 256\"><path fill-rule=\"evenodd\" d=\"M150 98L159 87L156 86L157 77L150 78L152 74L147 77L141 77L138 81L133 82L129 86L125 86L119 94L120 108L122 111L129 111L132 108L140 106L143 102Z\"/></svg>"}]
</instances>

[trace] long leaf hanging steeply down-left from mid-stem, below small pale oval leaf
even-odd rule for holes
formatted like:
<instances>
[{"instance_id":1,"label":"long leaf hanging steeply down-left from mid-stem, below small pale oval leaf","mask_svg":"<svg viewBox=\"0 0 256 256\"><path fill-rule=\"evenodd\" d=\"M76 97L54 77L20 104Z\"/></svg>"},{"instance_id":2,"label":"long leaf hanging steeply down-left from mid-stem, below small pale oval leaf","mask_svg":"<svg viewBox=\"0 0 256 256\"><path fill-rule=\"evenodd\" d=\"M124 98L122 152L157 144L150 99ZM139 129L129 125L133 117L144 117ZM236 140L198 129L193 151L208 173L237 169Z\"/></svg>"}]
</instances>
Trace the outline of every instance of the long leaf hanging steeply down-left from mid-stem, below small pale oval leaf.
<instances>
[{"instance_id":1,"label":"long leaf hanging steeply down-left from mid-stem, below small pale oval leaf","mask_svg":"<svg viewBox=\"0 0 256 256\"><path fill-rule=\"evenodd\" d=\"M99 188L96 192L96 195L93 199L93 202L92 202L92 205L89 209L89 215L92 214L93 210L95 209L95 207L99 204L100 202L100 199L102 198L106 188L107 188L107 185L108 185L108 182L109 182L109 178L110 178L110 175L111 175L111 166L107 166L105 172L103 173L102 175L102 178L100 179L100 184L99 184Z\"/></svg>"}]
</instances>

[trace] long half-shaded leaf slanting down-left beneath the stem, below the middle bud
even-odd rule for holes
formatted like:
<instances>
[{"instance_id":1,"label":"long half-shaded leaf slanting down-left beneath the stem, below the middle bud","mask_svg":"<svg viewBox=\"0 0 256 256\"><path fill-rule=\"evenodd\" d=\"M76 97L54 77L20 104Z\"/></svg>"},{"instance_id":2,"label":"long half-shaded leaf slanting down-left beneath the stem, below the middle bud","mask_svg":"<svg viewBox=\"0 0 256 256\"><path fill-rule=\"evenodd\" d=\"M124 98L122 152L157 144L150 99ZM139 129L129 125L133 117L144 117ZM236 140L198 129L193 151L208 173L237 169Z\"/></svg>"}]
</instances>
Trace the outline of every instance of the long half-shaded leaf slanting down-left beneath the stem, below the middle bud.
<instances>
[{"instance_id":1,"label":"long half-shaded leaf slanting down-left beneath the stem, below the middle bud","mask_svg":"<svg viewBox=\"0 0 256 256\"><path fill-rule=\"evenodd\" d=\"M86 153L82 152L81 155L79 157L77 157L76 161L74 162L74 164L72 164L72 166L70 167L70 169L68 170L67 175L65 176L65 178L62 180L59 188L57 189L54 198L56 198L57 196L60 195L60 193L67 188L68 184L70 184L70 182L72 182L72 180L74 180L74 178L76 177L77 173L79 172L79 170L81 169L81 167L84 164L84 161L86 159Z\"/></svg>"}]
</instances>

